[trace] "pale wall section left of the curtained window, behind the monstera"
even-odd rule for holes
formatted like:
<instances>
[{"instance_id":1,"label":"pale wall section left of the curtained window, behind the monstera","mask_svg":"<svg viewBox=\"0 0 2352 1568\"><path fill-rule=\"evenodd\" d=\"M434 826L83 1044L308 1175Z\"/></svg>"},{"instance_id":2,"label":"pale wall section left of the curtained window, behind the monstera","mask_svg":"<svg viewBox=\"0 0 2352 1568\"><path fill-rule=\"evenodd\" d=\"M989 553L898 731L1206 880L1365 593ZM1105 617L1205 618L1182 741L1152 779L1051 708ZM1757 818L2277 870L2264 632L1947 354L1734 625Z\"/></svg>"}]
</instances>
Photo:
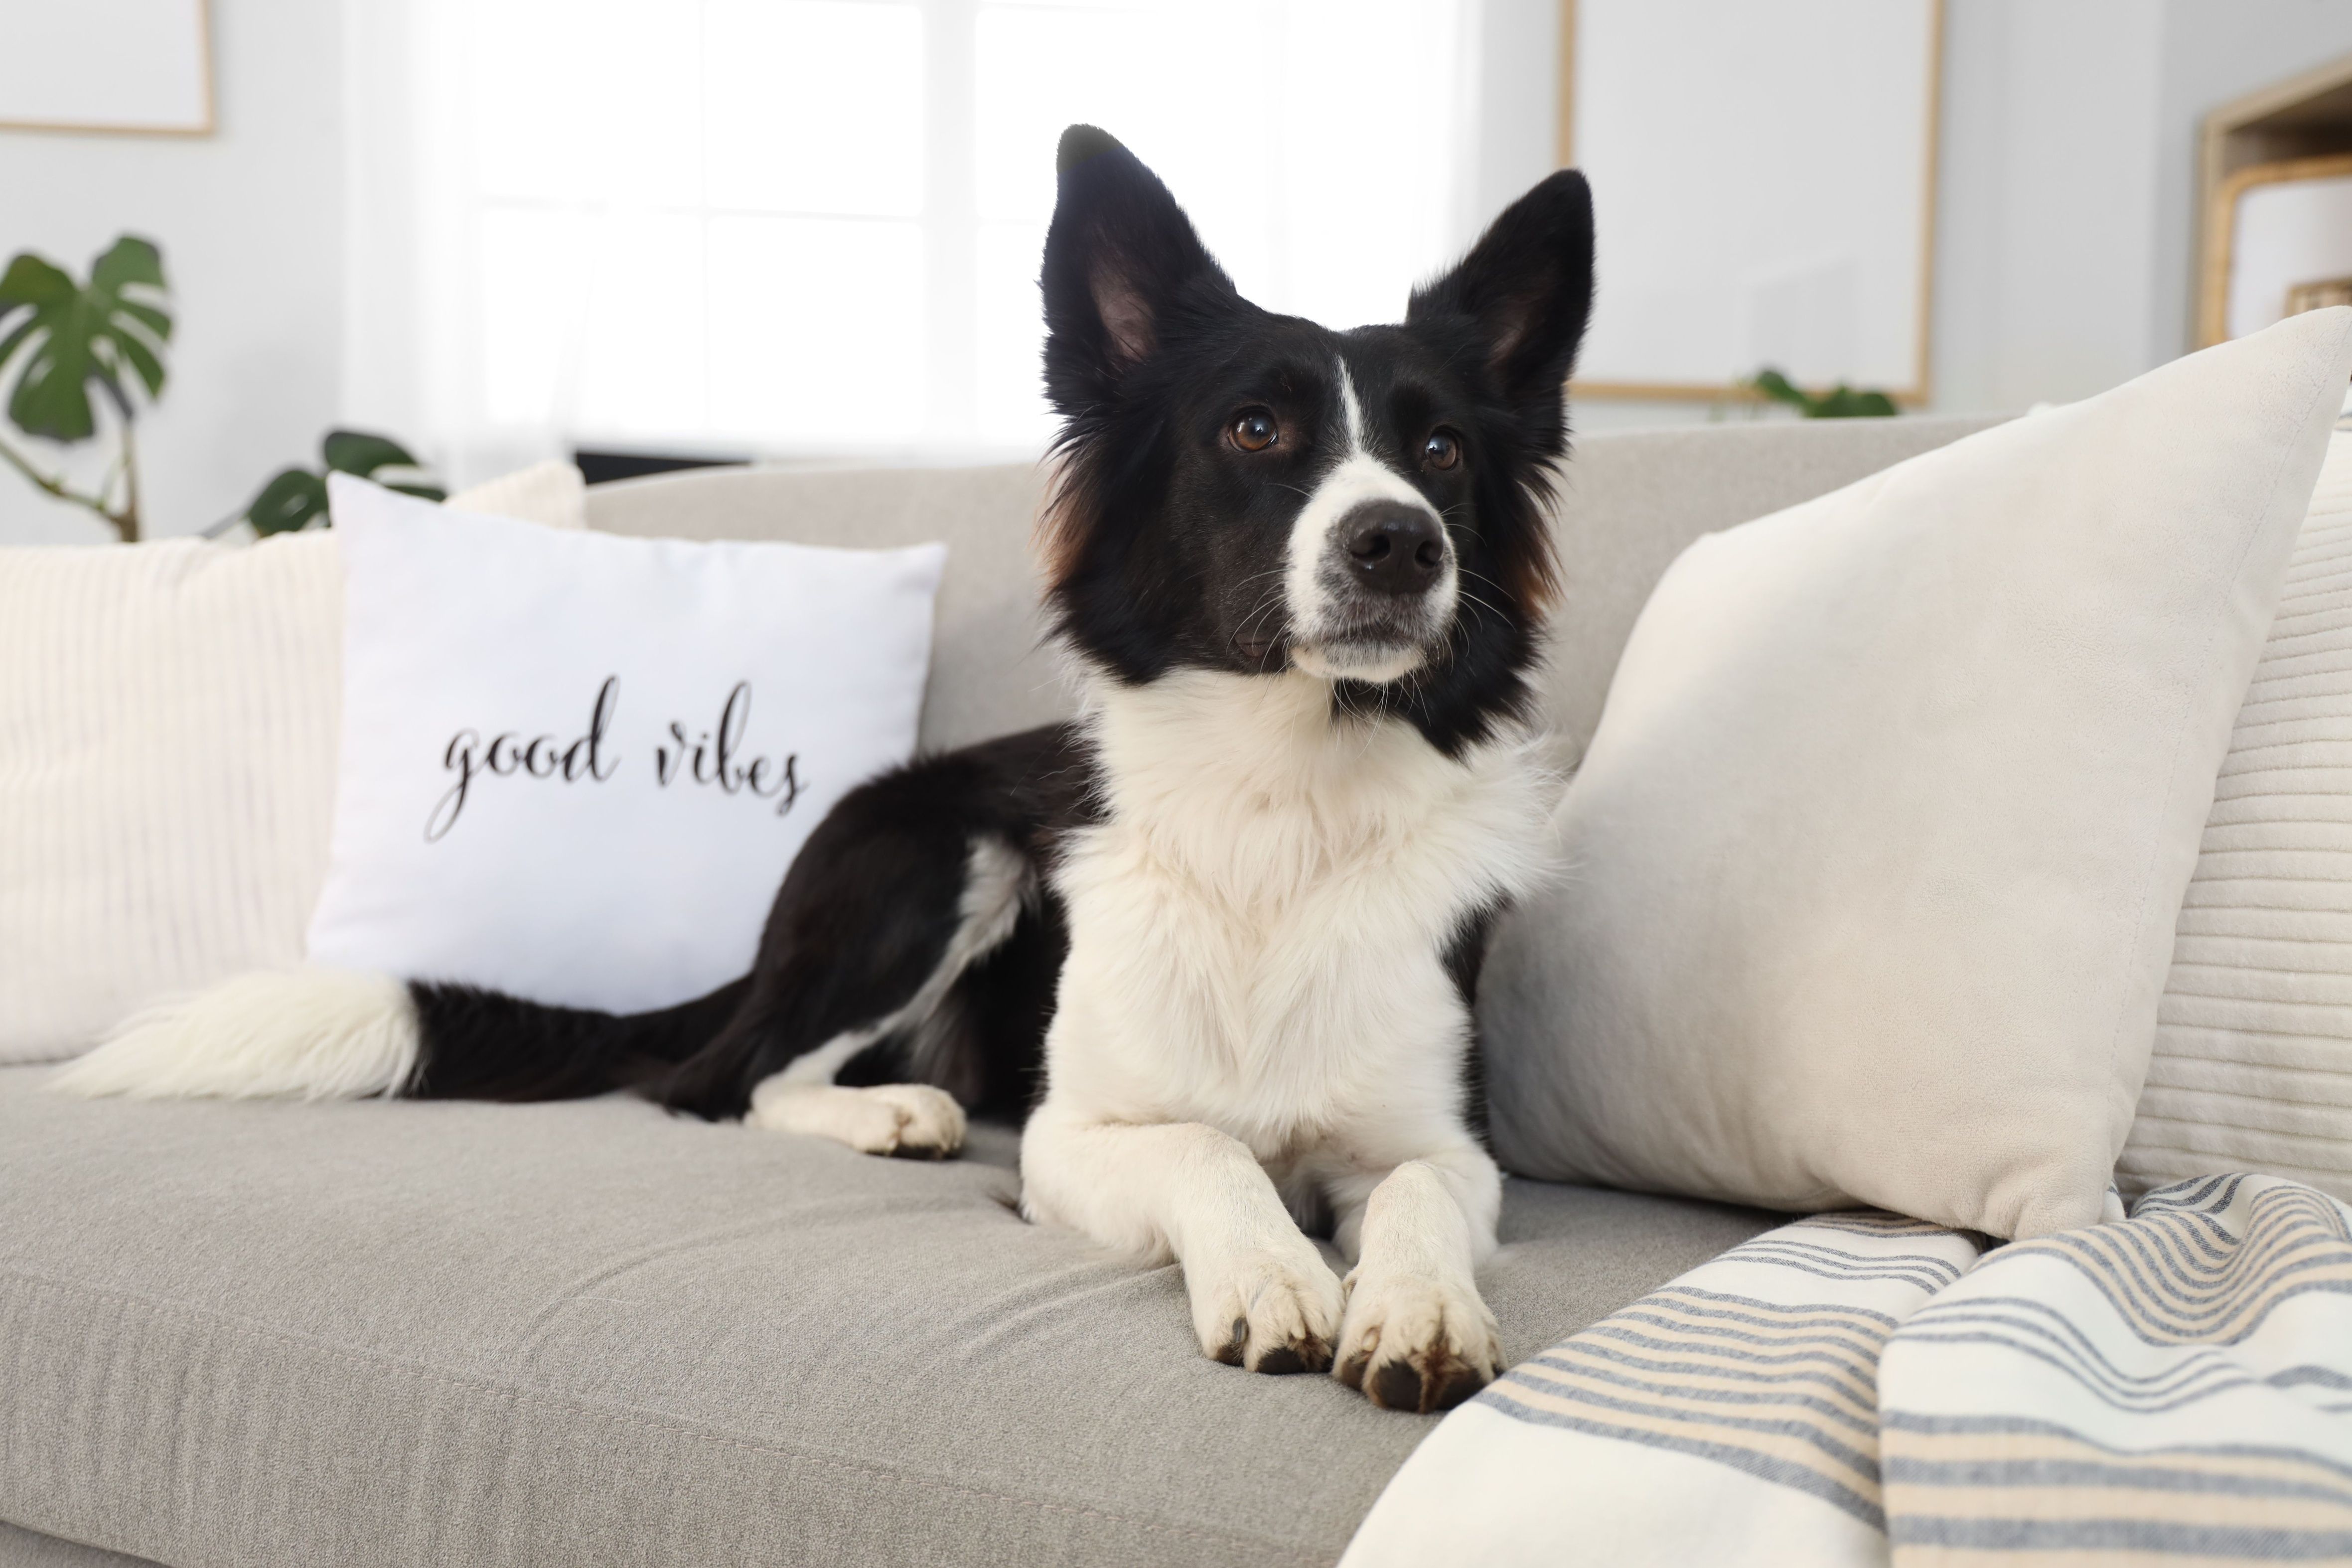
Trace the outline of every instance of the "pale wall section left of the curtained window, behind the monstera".
<instances>
[{"instance_id":1,"label":"pale wall section left of the curtained window, behind the monstera","mask_svg":"<svg viewBox=\"0 0 2352 1568\"><path fill-rule=\"evenodd\" d=\"M179 327L139 425L148 534L238 510L285 463L315 461L336 421L339 16L329 0L214 0L214 136L0 132L0 261L35 249L80 275L120 233L162 247ZM0 470L0 543L111 536Z\"/></svg>"}]
</instances>

